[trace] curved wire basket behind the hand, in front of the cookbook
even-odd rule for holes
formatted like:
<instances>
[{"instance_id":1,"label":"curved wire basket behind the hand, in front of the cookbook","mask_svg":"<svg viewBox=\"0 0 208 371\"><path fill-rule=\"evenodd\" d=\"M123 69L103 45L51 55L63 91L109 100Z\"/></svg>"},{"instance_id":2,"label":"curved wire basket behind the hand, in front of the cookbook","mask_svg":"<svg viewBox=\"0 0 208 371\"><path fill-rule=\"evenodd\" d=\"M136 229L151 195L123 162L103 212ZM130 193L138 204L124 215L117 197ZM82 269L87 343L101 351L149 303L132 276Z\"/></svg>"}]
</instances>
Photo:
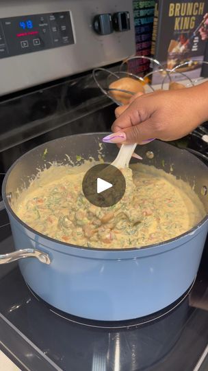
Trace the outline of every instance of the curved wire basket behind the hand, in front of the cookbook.
<instances>
[{"instance_id":1,"label":"curved wire basket behind the hand, in front of the cookbook","mask_svg":"<svg viewBox=\"0 0 208 371\"><path fill-rule=\"evenodd\" d=\"M128 71L128 64L130 61L135 60L135 59L148 60L151 64L151 68L155 66L156 69L154 69L151 72L148 72L148 74L146 74L143 77L138 76L137 74L133 74L131 71ZM174 74L180 74L183 77L183 80L185 80L185 84L183 84L183 80L180 81L180 83L185 85L185 87L191 87L191 86L196 85L196 83L198 82L198 79L192 80L189 76L187 76L187 74L182 72L181 69L184 70L185 68L190 67L192 65L197 66L197 65L203 65L203 64L208 65L208 62L205 60L197 60L197 61L188 60L187 62L181 63L172 69L167 69L164 67L164 65L159 63L159 61L154 58L151 58L148 56L132 56L130 58L125 59L120 64L118 71L111 71L109 69L100 67L100 68L93 69L92 76L94 78L94 81L96 82L96 85L99 87L99 89L101 89L103 94L107 95L107 97L111 99L114 103L116 103L118 106L122 106L123 103L120 102L120 100L117 100L112 94L112 92L117 91L120 93L129 94L129 99L131 98L132 95L135 94L135 92L125 90L125 89L116 89L114 87L113 88L109 87L112 84L112 82L115 82L116 80L119 80L120 78L124 78L124 77L133 78L141 82L141 84L144 87L145 93L150 93L151 91L155 91L155 87L151 85L151 78L153 74L160 74L161 84L160 84L159 89L163 89L163 90L165 89L166 82L170 83L174 81L174 78L173 78Z\"/></svg>"}]
</instances>

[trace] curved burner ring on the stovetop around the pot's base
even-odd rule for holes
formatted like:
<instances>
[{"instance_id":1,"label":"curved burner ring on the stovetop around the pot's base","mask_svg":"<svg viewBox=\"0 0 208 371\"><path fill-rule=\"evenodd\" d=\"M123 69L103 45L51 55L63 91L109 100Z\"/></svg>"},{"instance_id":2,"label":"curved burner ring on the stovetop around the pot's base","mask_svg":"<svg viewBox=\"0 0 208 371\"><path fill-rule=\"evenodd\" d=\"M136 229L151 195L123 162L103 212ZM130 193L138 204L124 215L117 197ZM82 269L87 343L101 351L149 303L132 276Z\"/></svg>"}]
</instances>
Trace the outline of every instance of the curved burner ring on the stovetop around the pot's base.
<instances>
[{"instance_id":1,"label":"curved burner ring on the stovetop around the pot's base","mask_svg":"<svg viewBox=\"0 0 208 371\"><path fill-rule=\"evenodd\" d=\"M145 317L140 317L140 318L135 318L135 319L128 319L127 321L114 321L114 322L111 322L111 321L96 321L96 320L93 320L93 319L86 319L86 318L76 317L75 315L70 315L70 314L65 313L63 311L60 311L59 309L51 306L50 304L48 304L47 302L42 300L41 297L39 297L36 293L34 293L34 291L29 287L29 285L27 283L26 284L27 284L27 287L28 287L29 291L31 292L32 295L34 295L34 297L36 298L36 300L38 300L38 302L42 302L42 304L44 304L44 306L47 306L49 311L51 311L52 313L54 313L55 315L57 315L59 317L62 317L64 319L66 319L69 322L73 322L75 324L80 324L82 326L93 327L93 328L110 328L110 329L125 328L125 329L129 329L129 328L137 328L138 326L142 326L144 324L149 324L149 323L152 323L152 322L156 322L157 320L159 320L163 317L166 317L166 315L172 313L176 308L178 308L178 306L180 306L185 301L187 296L190 294L190 291L192 290L192 287L194 286L195 280L196 280L196 278L192 282L189 289L187 289L187 291L185 291L185 293L183 295L181 295L181 297L179 297L178 300L176 300L175 302L173 302L169 306L166 306L166 308L162 309L161 311L158 311L156 313L153 313L153 314L145 316Z\"/></svg>"}]
</instances>

